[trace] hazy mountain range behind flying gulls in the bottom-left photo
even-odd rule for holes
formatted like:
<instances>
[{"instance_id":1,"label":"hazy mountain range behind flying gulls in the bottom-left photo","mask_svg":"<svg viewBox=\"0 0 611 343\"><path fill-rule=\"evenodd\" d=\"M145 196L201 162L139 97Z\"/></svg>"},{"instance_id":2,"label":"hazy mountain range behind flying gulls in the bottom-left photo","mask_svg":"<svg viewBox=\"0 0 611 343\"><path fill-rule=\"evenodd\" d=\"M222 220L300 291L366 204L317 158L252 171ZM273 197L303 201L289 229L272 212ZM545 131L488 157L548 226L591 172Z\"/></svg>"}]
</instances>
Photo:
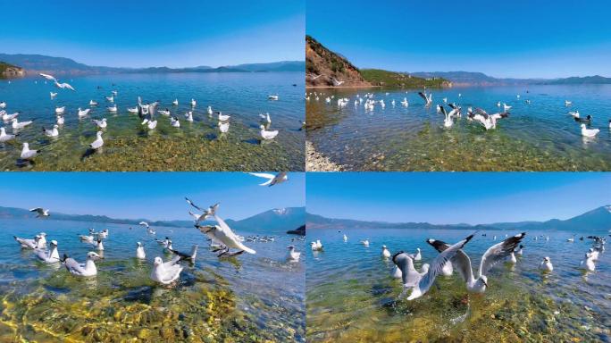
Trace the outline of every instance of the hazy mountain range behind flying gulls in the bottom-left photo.
<instances>
[{"instance_id":1,"label":"hazy mountain range behind flying gulls in the bottom-left photo","mask_svg":"<svg viewBox=\"0 0 611 343\"><path fill-rule=\"evenodd\" d=\"M0 206L0 219L31 219L36 214L27 209ZM146 218L117 219L106 215L65 214L52 212L46 221L72 222L105 222L112 224L138 225L138 222L148 222L151 226L167 226L174 228L191 228L193 221L149 221ZM258 213L239 221L226 219L225 222L234 230L260 230L270 233L283 233L296 230L306 222L306 207L276 208L264 213ZM214 222L202 222L202 224Z\"/></svg>"}]
</instances>

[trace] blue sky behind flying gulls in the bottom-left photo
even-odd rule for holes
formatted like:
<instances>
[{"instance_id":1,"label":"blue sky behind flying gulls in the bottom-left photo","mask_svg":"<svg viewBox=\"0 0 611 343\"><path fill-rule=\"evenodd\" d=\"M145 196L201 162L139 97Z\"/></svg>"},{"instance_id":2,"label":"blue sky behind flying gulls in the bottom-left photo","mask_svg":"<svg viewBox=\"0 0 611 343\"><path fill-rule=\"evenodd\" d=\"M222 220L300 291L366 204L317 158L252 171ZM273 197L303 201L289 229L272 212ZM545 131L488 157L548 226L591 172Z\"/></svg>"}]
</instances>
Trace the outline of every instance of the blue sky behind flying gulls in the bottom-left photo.
<instances>
[{"instance_id":1,"label":"blue sky behind flying gulls in the bottom-left photo","mask_svg":"<svg viewBox=\"0 0 611 343\"><path fill-rule=\"evenodd\" d=\"M219 214L231 219L306 204L304 173L289 173L289 181L273 187L258 186L263 181L242 172L4 172L0 206L189 220L184 197L202 206L221 202Z\"/></svg>"}]
</instances>

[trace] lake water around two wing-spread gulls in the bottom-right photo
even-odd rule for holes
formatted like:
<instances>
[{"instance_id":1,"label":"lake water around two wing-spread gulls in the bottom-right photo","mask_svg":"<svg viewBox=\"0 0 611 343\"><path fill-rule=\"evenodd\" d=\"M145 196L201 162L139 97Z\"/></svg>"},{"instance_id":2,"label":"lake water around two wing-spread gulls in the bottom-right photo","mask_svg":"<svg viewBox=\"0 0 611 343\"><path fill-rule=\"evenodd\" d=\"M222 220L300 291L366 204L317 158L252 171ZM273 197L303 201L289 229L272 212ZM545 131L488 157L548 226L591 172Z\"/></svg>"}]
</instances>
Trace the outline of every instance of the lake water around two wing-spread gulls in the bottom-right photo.
<instances>
[{"instance_id":1,"label":"lake water around two wing-spread gulls in the bottom-right photo","mask_svg":"<svg viewBox=\"0 0 611 343\"><path fill-rule=\"evenodd\" d=\"M514 231L481 231L465 247L472 264ZM344 243L342 234L348 241ZM579 267L590 240L565 242L573 232L530 231L515 267L498 264L484 295L469 295L455 274L439 277L429 293L414 301L398 300L401 281L390 276L393 264L381 257L381 245L392 254L422 249L430 263L437 252L424 242L456 242L467 230L311 230L306 242L321 239L324 250L306 254L306 311L309 342L404 341L609 341L611 339L611 258L599 257L597 270ZM600 232L574 232L606 234ZM533 240L549 235L549 241ZM370 239L370 247L359 243ZM497 240L497 242L499 239ZM549 256L554 272L538 271Z\"/></svg>"}]
</instances>

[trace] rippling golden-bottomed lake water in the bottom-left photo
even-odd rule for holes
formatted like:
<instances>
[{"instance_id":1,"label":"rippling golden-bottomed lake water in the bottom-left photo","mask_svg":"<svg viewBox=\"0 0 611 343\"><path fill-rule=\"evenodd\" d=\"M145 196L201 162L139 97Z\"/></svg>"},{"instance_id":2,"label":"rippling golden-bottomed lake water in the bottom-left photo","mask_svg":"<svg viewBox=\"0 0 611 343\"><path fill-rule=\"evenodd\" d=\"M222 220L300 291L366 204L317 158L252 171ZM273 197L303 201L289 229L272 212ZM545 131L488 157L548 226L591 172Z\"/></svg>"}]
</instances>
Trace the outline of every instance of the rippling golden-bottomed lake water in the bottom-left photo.
<instances>
[{"instance_id":1,"label":"rippling golden-bottomed lake water in the bottom-left photo","mask_svg":"<svg viewBox=\"0 0 611 343\"><path fill-rule=\"evenodd\" d=\"M93 249L77 234L88 228L110 230L105 260L96 263L92 279L74 277L59 264L39 263L13 240L13 235L30 238L44 231L47 241L58 241L60 255L84 262ZM185 264L172 288L149 279L155 256L171 256L141 227L0 220L0 341L304 341L305 268L284 260L295 236L249 242L256 255L219 260L196 229L156 229L157 237L170 236L180 251L189 251L194 241L200 246L195 266ZM238 233L269 234L264 228ZM145 245L145 263L135 258L137 241ZM292 244L303 250L303 242Z\"/></svg>"}]
</instances>

